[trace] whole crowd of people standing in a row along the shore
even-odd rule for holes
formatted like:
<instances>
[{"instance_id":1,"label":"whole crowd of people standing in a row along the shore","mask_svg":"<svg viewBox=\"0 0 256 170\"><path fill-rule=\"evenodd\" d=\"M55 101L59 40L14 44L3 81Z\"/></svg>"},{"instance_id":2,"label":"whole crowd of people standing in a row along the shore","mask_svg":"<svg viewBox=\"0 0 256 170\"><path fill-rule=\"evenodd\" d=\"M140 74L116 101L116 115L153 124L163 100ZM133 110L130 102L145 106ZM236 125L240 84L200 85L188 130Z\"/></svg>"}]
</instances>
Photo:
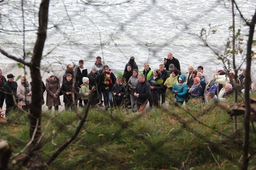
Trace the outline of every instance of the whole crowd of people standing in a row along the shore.
<instances>
[{"instance_id":1,"label":"whole crowd of people standing in a row along the shore","mask_svg":"<svg viewBox=\"0 0 256 170\"><path fill-rule=\"evenodd\" d=\"M43 92L45 90L47 92L46 106L49 109L54 107L55 111L58 111L61 95L63 95L65 110L73 110L77 104L79 107L84 107L90 103L92 107L105 107L105 109L123 107L143 112L148 103L150 109L159 107L165 102L170 106L182 105L192 98L201 100L203 103L214 103L225 100L234 92L232 72L229 72L230 76L228 76L225 71L219 70L210 80L203 66L195 69L189 65L188 72L182 75L180 63L172 53L167 54L167 58L164 58L159 69L152 70L149 63L144 63L142 71L139 71L135 58L131 56L123 74L117 77L108 65L102 64L100 56L97 56L90 71L84 66L83 59L80 59L78 64L75 70L71 64L66 66L62 85L52 72L49 73L45 84L42 81ZM238 77L242 92L245 74L246 71L243 69ZM224 83L216 76L223 77ZM6 80L0 69L0 109L5 101L5 116L11 109L18 107L17 103L25 111L29 110L31 103L32 89L28 77L22 75L19 84L14 81L14 77L13 74L8 74ZM228 82L226 77L229 77ZM90 102L89 99L91 99ZM44 99L42 100L44 104Z\"/></svg>"}]
</instances>

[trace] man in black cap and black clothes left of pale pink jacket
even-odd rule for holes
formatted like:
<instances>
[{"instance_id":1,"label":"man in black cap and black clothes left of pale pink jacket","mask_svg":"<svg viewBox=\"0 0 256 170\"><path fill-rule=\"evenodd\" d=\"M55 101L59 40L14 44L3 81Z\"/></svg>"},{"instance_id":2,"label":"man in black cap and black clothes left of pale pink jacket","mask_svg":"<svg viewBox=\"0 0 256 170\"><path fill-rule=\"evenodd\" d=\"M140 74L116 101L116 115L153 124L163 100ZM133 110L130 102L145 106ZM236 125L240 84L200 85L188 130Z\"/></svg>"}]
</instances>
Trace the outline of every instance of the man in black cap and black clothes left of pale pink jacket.
<instances>
[{"instance_id":1,"label":"man in black cap and black clothes left of pale pink jacket","mask_svg":"<svg viewBox=\"0 0 256 170\"><path fill-rule=\"evenodd\" d=\"M8 74L7 75L7 82L3 84L3 91L5 92L5 104L6 104L6 111L5 111L5 117L10 112L11 109L16 109L16 105L14 102L15 98L18 98L17 96L17 82L14 81L14 75Z\"/></svg>"}]
</instances>

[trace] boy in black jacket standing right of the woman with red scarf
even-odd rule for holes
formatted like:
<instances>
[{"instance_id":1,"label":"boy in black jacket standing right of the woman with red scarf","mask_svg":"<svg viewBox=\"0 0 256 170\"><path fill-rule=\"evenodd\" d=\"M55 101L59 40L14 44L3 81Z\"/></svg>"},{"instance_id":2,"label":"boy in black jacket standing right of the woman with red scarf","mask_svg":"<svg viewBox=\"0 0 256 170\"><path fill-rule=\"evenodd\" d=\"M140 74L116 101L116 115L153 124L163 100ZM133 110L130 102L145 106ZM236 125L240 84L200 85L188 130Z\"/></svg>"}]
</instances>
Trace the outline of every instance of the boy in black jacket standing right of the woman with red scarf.
<instances>
[{"instance_id":1,"label":"boy in black jacket standing right of the woman with red scarf","mask_svg":"<svg viewBox=\"0 0 256 170\"><path fill-rule=\"evenodd\" d=\"M121 106L123 102L123 96L125 95L125 86L122 85L122 78L117 77L117 83L112 88L113 103L115 107Z\"/></svg>"}]
</instances>

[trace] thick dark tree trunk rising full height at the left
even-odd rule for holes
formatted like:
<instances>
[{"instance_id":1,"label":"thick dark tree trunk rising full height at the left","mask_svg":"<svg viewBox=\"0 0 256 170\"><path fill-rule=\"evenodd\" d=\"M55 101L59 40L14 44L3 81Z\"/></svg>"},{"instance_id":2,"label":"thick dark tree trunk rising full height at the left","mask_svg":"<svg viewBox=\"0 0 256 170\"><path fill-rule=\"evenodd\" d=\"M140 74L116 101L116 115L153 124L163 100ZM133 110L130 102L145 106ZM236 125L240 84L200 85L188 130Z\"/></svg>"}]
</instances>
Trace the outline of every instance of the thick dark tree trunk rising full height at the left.
<instances>
[{"instance_id":1,"label":"thick dark tree trunk rising full height at the left","mask_svg":"<svg viewBox=\"0 0 256 170\"><path fill-rule=\"evenodd\" d=\"M39 169L41 167L41 141L39 141L41 132L41 103L42 103L42 77L40 74L40 63L42 59L42 52L47 35L49 0L42 0L39 8L39 28L37 33L37 40L35 43L30 71L32 79L32 103L30 109L30 129L29 135L32 138L34 129L37 127L36 135L29 148L29 169ZM38 125L37 125L38 120Z\"/></svg>"}]
</instances>

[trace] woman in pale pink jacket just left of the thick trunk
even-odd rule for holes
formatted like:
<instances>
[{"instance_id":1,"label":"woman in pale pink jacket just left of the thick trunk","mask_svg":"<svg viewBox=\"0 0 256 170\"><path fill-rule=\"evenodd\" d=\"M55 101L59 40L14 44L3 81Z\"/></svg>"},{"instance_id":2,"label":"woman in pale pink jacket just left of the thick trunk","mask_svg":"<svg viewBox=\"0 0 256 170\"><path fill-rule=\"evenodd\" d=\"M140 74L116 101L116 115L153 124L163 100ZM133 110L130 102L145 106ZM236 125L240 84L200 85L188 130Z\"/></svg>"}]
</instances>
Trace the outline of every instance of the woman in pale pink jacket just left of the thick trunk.
<instances>
[{"instance_id":1,"label":"woman in pale pink jacket just left of the thick trunk","mask_svg":"<svg viewBox=\"0 0 256 170\"><path fill-rule=\"evenodd\" d=\"M31 85L28 82L28 77L25 75L21 75L21 82L17 88L17 96L18 98L22 99L22 108L25 111L28 111L29 104L31 103Z\"/></svg>"}]
</instances>

